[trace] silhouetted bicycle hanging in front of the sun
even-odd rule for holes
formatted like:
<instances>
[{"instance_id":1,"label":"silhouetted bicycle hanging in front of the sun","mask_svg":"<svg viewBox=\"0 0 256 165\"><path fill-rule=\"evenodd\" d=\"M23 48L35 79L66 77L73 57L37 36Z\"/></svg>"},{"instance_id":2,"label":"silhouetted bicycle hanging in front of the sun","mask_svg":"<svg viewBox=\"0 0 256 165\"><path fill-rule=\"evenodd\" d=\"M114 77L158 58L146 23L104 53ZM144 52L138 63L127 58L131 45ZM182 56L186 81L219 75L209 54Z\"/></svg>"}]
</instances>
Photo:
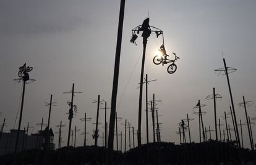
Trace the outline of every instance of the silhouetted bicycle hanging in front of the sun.
<instances>
[{"instance_id":1,"label":"silhouetted bicycle hanging in front of the sun","mask_svg":"<svg viewBox=\"0 0 256 165\"><path fill-rule=\"evenodd\" d=\"M169 74L174 73L177 70L177 65L174 63L177 59L179 59L179 57L177 57L177 55L175 53L173 53L175 55L175 59L171 60L171 59L167 59L167 57L169 55L165 54L165 55L156 55L153 58L153 63L155 63L155 65L160 65L160 63L162 63L162 65L167 64L167 63L171 63L171 65L168 66L167 71ZM166 56L166 57L164 57Z\"/></svg>"}]
</instances>

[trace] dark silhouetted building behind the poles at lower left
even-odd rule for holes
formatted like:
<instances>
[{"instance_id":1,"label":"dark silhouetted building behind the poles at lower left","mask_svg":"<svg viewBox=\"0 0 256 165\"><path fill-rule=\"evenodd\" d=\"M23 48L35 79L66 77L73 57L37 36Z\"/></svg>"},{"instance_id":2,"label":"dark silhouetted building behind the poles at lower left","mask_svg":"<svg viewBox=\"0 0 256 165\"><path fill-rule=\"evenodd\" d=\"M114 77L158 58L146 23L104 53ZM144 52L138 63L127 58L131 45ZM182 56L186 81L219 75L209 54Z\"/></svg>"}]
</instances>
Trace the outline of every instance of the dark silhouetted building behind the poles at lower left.
<instances>
[{"instance_id":1,"label":"dark silhouetted building behind the poles at lower left","mask_svg":"<svg viewBox=\"0 0 256 165\"><path fill-rule=\"evenodd\" d=\"M0 155L14 153L17 132L17 129L11 129L9 133L2 133L0 139ZM46 146L46 137L47 127L44 131L39 131L38 133L31 135L27 135L26 131L20 130L17 151L20 152L23 150L31 150L34 148L40 148L40 150L43 150ZM55 143L53 143L53 140L53 130L49 129L49 149L51 150L55 148Z\"/></svg>"}]
</instances>

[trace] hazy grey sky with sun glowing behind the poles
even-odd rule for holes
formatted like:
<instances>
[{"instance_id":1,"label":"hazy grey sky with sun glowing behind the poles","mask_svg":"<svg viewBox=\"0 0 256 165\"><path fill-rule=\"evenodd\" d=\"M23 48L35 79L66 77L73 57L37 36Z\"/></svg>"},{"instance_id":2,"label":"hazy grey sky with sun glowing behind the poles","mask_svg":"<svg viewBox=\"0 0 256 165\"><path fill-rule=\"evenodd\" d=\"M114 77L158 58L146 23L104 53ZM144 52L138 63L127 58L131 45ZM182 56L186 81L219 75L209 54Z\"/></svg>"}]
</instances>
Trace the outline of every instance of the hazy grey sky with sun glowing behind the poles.
<instances>
[{"instance_id":1,"label":"hazy grey sky with sun glowing behind the poles","mask_svg":"<svg viewBox=\"0 0 256 165\"><path fill-rule=\"evenodd\" d=\"M35 133L39 128L35 124L40 123L41 118L44 118L44 123L47 122L48 107L45 107L45 102L49 102L50 94L53 94L53 101L58 105L53 107L50 126L56 132L56 125L61 120L68 125L67 101L70 101L71 95L62 93L69 92L72 83L75 83L75 91L83 93L74 97L79 113L74 116L72 128L76 125L81 129L77 142L83 144L83 136L80 135L83 123L79 119L86 112L92 118L90 123L95 123L96 103L92 102L98 94L110 107L119 6L120 1L0 0L0 122L2 124L6 118L4 131L14 128L22 92L22 83L14 79L18 78L19 66L26 62L33 67L30 78L36 81L26 86L22 128L30 122ZM207 111L207 115L203 116L205 126L214 127L213 100L205 100L207 95L212 94L213 87L216 93L223 96L217 101L218 118L224 116L224 111L229 112L231 102L226 76L218 76L214 71L223 67L221 52L227 65L237 69L229 74L229 78L237 119L242 119L244 123L244 109L237 103L242 102L243 95L246 100L256 101L255 8L255 1L126 1L117 116L129 120L137 129L137 87L143 47L140 35L137 46L130 43L130 37L131 30L141 25L149 13L150 25L164 31L167 53L176 52L181 57L176 63L176 73L168 74L168 65L154 65L152 61L162 44L161 39L155 35L148 39L145 73L148 79L157 79L149 84L148 97L153 99L155 93L156 99L163 101L158 105L159 115L163 115L159 118L163 123L161 140L179 143L179 135L175 132L178 123L188 113L190 118L195 118L190 123L192 140L198 142L198 119L193 115L193 107L198 99L207 104L203 108L203 111ZM143 96L145 110L145 88ZM248 107L247 111L251 117L256 116L255 105ZM122 132L124 126L120 124L124 119L119 122L119 131L122 129ZM100 111L99 120L104 123L103 110ZM224 124L222 118L221 123ZM228 119L228 123L233 127L231 119ZM93 145L94 127L88 124L88 145ZM67 145L67 129L67 126L64 127L62 132L62 146ZM255 127L252 129L255 137ZM146 142L145 133L143 111L142 143ZM245 126L243 133L245 147L249 147ZM58 134L54 140L57 144ZM101 139L98 141L101 145Z\"/></svg>"}]
</instances>

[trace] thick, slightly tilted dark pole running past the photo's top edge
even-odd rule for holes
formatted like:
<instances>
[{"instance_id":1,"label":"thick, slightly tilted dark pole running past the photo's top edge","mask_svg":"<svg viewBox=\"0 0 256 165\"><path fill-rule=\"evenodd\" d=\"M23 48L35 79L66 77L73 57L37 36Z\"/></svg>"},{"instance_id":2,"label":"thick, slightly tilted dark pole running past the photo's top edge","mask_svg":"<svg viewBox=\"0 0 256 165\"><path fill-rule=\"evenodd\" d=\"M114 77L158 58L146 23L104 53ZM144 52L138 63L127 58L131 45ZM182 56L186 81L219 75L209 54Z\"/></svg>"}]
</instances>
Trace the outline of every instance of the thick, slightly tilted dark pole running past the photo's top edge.
<instances>
[{"instance_id":1,"label":"thick, slightly tilted dark pole running past the photo's top edge","mask_svg":"<svg viewBox=\"0 0 256 165\"><path fill-rule=\"evenodd\" d=\"M113 78L113 89L111 97L111 112L109 119L109 138L108 138L108 156L107 164L113 164L113 143L114 143L114 115L116 113L116 97L117 97L117 87L118 87L118 77L119 77L119 63L121 54L121 43L122 43L122 26L124 22L124 6L125 0L121 0L120 13L119 13L119 23L118 23L118 33L117 33L117 44L116 44L116 58L114 63L114 78Z\"/></svg>"}]
</instances>

